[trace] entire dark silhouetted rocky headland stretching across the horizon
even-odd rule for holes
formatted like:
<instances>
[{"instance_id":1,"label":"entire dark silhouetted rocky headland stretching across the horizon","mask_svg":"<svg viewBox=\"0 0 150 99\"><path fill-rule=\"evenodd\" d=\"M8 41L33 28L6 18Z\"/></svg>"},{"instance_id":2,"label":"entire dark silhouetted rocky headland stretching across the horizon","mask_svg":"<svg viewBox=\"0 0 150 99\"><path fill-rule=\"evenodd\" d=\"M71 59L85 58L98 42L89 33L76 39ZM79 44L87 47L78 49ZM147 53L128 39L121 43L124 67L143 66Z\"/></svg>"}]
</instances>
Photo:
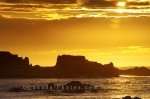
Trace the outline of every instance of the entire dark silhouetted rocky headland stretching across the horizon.
<instances>
[{"instance_id":1,"label":"entire dark silhouetted rocky headland stretching across the horizon","mask_svg":"<svg viewBox=\"0 0 150 99\"><path fill-rule=\"evenodd\" d=\"M0 51L0 78L102 78L126 75L150 75L148 68L119 70L113 63L89 61L85 56L59 55L55 66L32 66L28 57Z\"/></svg>"}]
</instances>

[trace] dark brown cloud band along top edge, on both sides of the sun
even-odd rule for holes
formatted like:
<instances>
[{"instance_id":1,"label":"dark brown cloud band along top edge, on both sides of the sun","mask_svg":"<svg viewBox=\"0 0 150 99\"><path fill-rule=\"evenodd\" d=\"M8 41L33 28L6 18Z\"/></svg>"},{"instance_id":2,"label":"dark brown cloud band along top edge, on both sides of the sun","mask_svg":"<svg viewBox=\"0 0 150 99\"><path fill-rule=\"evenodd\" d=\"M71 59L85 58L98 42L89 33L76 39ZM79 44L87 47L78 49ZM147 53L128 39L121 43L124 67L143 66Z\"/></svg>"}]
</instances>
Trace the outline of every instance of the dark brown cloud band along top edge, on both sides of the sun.
<instances>
[{"instance_id":1,"label":"dark brown cloud band along top edge, on both sides of the sun","mask_svg":"<svg viewBox=\"0 0 150 99\"><path fill-rule=\"evenodd\" d=\"M94 7L115 7L118 0L0 0L0 2L6 3L48 3L48 4L79 4L81 6L94 6ZM150 5L150 2L136 2L126 1L127 6L146 6ZM29 5L30 6L30 5Z\"/></svg>"}]
</instances>

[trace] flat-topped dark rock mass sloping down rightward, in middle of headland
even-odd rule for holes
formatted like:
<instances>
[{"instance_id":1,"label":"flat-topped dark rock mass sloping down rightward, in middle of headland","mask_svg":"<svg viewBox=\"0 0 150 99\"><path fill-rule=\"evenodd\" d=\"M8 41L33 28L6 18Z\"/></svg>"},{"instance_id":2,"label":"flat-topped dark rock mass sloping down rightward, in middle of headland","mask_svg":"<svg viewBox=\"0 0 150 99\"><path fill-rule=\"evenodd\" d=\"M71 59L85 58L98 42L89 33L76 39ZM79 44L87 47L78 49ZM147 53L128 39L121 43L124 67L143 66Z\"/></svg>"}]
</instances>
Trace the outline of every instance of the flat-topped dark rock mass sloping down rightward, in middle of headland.
<instances>
[{"instance_id":1,"label":"flat-topped dark rock mass sloping down rightward, in middle of headland","mask_svg":"<svg viewBox=\"0 0 150 99\"><path fill-rule=\"evenodd\" d=\"M113 63L102 65L88 61L84 56L58 56L54 67L57 77L68 78L97 78L119 76Z\"/></svg>"}]
</instances>

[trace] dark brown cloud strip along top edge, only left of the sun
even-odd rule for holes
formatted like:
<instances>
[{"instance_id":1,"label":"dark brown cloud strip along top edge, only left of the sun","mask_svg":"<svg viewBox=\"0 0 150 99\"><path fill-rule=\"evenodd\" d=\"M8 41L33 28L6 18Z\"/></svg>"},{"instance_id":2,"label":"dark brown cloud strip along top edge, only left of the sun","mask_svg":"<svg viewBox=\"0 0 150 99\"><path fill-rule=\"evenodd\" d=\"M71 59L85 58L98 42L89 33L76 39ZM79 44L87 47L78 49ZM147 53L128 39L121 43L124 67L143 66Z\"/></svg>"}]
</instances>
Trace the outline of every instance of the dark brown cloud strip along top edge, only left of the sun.
<instances>
[{"instance_id":1,"label":"dark brown cloud strip along top edge, only left of the sun","mask_svg":"<svg viewBox=\"0 0 150 99\"><path fill-rule=\"evenodd\" d=\"M50 4L74 4L78 3L82 6L115 6L116 0L0 0L7 3L50 3Z\"/></svg>"}]
</instances>

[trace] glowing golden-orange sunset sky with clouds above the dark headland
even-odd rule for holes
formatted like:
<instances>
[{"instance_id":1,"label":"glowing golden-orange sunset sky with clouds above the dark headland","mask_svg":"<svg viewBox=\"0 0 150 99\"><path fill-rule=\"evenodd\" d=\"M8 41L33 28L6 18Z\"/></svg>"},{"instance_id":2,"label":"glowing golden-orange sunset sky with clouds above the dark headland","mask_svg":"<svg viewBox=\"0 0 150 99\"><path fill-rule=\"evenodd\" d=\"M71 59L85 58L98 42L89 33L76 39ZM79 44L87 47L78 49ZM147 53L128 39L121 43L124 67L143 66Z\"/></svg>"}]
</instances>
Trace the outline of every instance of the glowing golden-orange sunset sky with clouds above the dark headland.
<instances>
[{"instance_id":1,"label":"glowing golden-orange sunset sky with clouds above the dark headland","mask_svg":"<svg viewBox=\"0 0 150 99\"><path fill-rule=\"evenodd\" d=\"M149 0L0 0L0 51L54 66L83 55L116 67L150 66Z\"/></svg>"}]
</instances>

